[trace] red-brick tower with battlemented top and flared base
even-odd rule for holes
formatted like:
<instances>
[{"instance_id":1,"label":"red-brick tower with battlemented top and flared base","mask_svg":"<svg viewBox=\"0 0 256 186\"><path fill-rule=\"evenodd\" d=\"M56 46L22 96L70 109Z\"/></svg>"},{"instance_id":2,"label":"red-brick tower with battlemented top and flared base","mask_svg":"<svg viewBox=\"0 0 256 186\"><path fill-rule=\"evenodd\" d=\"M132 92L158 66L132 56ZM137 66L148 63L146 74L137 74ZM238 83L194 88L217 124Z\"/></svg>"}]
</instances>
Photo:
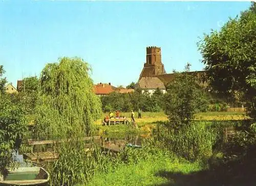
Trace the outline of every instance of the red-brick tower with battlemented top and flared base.
<instances>
[{"instance_id":1,"label":"red-brick tower with battlemented top and flared base","mask_svg":"<svg viewBox=\"0 0 256 186\"><path fill-rule=\"evenodd\" d=\"M146 47L146 63L144 63L139 79L165 73L164 65L161 60L161 48L156 46Z\"/></svg>"}]
</instances>

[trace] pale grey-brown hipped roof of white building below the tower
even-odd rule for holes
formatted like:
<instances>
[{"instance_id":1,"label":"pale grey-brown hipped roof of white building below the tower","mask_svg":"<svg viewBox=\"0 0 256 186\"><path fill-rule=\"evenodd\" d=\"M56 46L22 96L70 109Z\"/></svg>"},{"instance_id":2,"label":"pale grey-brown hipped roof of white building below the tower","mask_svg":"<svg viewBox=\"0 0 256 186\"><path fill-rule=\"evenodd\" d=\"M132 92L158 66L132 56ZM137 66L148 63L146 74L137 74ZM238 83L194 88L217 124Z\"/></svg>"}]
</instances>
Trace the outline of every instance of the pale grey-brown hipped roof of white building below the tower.
<instances>
[{"instance_id":1,"label":"pale grey-brown hipped roof of white building below the tower","mask_svg":"<svg viewBox=\"0 0 256 186\"><path fill-rule=\"evenodd\" d=\"M141 89L165 89L163 82L158 77L142 77L137 86Z\"/></svg>"}]
</instances>

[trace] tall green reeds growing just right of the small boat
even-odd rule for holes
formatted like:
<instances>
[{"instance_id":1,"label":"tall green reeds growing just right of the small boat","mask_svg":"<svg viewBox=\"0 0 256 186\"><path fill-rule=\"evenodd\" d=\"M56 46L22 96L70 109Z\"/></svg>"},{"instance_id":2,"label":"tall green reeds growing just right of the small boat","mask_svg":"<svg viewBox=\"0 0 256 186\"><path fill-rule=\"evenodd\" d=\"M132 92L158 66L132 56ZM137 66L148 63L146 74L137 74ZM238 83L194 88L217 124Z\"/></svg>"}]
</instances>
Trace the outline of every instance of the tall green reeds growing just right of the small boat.
<instances>
[{"instance_id":1,"label":"tall green reeds growing just right of the small boat","mask_svg":"<svg viewBox=\"0 0 256 186\"><path fill-rule=\"evenodd\" d=\"M96 171L106 172L119 163L114 154L103 152L100 147L84 149L84 144L76 139L59 149L58 160L48 165L51 185L84 184L92 178Z\"/></svg>"}]
</instances>

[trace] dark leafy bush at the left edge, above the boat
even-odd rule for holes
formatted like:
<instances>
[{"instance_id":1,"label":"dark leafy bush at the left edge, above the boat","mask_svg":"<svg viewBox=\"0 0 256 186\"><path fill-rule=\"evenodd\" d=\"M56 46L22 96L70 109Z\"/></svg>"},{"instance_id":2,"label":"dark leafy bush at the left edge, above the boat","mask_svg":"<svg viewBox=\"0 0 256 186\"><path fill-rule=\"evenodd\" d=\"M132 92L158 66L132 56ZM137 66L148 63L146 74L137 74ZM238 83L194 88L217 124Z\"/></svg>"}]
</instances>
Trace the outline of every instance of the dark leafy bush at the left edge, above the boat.
<instances>
[{"instance_id":1,"label":"dark leafy bush at the left edge, above the boat","mask_svg":"<svg viewBox=\"0 0 256 186\"><path fill-rule=\"evenodd\" d=\"M13 165L12 150L20 146L27 131L24 111L11 95L0 99L0 173L5 175L6 168Z\"/></svg>"}]
</instances>

